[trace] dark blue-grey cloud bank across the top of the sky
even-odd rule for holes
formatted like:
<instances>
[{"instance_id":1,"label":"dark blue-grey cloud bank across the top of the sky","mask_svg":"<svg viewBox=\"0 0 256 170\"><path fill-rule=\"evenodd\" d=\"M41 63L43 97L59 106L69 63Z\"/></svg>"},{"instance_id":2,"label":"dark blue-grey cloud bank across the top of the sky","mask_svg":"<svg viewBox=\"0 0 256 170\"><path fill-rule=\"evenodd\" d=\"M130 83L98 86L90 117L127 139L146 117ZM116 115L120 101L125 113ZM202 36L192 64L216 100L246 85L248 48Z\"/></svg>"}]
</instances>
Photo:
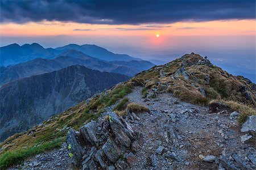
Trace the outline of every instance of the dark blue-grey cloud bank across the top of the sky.
<instances>
[{"instance_id":1,"label":"dark blue-grey cloud bank across the top of the sky","mask_svg":"<svg viewBox=\"0 0 256 170\"><path fill-rule=\"evenodd\" d=\"M1 22L15 23L162 24L255 18L255 0L1 0L0 8Z\"/></svg>"}]
</instances>

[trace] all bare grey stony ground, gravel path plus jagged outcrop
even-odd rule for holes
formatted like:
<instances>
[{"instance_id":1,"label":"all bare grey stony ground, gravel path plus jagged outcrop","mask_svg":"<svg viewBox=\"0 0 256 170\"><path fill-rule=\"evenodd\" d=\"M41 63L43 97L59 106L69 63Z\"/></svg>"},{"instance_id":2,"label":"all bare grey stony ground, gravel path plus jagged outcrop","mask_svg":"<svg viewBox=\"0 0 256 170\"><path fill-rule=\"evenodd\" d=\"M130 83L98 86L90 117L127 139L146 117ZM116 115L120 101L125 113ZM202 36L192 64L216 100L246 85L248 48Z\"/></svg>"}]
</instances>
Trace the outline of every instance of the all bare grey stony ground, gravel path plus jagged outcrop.
<instances>
[{"instance_id":1,"label":"all bare grey stony ground, gravel path plus jagged outcrop","mask_svg":"<svg viewBox=\"0 0 256 170\"><path fill-rule=\"evenodd\" d=\"M126 123L109 114L113 109L110 107L104 113L111 115L109 122L101 118L98 123L83 126L80 132L69 131L67 143L72 141L69 153L72 150L73 160L69 159L67 145L63 145L13 169L72 169L71 162L81 163L82 169L256 168L255 140L241 133L238 113L211 113L207 107L185 103L169 93L145 99L141 91L141 87L135 87L126 97L145 105L150 112L132 113ZM78 136L89 144L76 142ZM82 161L76 157L82 157Z\"/></svg>"}]
</instances>

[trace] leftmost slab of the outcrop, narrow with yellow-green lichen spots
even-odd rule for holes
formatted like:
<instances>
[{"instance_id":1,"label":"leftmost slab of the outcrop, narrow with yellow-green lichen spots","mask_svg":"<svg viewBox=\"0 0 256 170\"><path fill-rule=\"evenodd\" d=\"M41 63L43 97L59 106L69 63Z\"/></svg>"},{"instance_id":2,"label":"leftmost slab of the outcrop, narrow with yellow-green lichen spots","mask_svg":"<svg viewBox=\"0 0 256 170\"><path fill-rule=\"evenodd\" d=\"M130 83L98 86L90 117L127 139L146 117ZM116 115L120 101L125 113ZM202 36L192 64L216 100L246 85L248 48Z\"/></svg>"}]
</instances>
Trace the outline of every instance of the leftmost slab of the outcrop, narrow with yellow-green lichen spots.
<instances>
[{"instance_id":1,"label":"leftmost slab of the outcrop, narrow with yellow-green lichen spots","mask_svg":"<svg viewBox=\"0 0 256 170\"><path fill-rule=\"evenodd\" d=\"M84 154L84 150L82 149L82 146L80 145L79 141L77 141L76 133L73 129L68 130L67 146L71 162L75 164L77 167L80 167L80 159Z\"/></svg>"}]
</instances>

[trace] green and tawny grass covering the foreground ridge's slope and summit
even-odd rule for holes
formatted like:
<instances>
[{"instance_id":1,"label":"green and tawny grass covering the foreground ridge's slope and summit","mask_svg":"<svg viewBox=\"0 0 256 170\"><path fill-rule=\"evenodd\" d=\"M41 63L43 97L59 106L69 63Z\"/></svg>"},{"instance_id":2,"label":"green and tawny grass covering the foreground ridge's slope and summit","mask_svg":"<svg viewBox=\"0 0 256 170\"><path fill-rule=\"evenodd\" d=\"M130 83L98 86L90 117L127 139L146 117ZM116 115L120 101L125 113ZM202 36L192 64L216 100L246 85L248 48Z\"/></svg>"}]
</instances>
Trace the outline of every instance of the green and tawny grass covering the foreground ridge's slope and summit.
<instances>
[{"instance_id":1,"label":"green and tawny grass covering the foreground ridge's slope and summit","mask_svg":"<svg viewBox=\"0 0 256 170\"><path fill-rule=\"evenodd\" d=\"M200 59L202 57L197 54L185 55L183 61L178 58L166 65L152 67L152 69L143 71L128 82L119 84L108 92L102 92L93 97L89 103L80 103L43 122L42 125L35 126L25 133L9 137L0 144L0 148L3 148L0 152L0 169L19 164L32 155L60 146L65 141L67 127L71 126L79 130L82 125L100 116L106 107L123 99L126 94L132 91L133 86L142 86L142 84L144 84L142 91L144 96L153 88L158 88L159 91L171 92L181 100L200 105L207 105L213 99L215 99L214 101L221 100L242 113L242 121L247 115L256 114L255 96L252 95L253 101L249 102L238 90L238 87L246 86L250 94L254 93L249 84L246 84L241 77L229 75L219 67L205 65L185 66L185 70L191 73L188 80L185 80L183 75L176 74L177 69L181 67L181 63L184 61L196 63ZM166 76L160 76L160 70ZM207 76L211 79L209 84L205 80ZM192 83L195 87L192 86ZM205 89L207 97L200 94L199 87ZM241 103L242 101L246 102ZM127 99L120 100L115 109L118 112L118 110L125 108L126 104ZM121 114L125 114L125 112L121 112ZM29 135L31 130L34 133Z\"/></svg>"}]
</instances>

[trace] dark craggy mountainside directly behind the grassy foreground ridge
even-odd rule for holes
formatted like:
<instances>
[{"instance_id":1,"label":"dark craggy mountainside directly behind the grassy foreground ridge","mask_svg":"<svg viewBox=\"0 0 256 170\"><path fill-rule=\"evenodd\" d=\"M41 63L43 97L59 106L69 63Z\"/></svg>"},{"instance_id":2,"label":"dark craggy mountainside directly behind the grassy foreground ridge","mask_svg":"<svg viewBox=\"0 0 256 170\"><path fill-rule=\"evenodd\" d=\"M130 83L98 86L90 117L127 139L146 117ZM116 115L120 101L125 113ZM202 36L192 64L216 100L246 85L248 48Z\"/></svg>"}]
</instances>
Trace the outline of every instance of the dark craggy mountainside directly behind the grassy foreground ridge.
<instances>
[{"instance_id":1,"label":"dark craggy mountainside directly behind the grassy foreground ridge","mask_svg":"<svg viewBox=\"0 0 256 170\"><path fill-rule=\"evenodd\" d=\"M76 65L7 83L0 88L0 141L128 78Z\"/></svg>"}]
</instances>

